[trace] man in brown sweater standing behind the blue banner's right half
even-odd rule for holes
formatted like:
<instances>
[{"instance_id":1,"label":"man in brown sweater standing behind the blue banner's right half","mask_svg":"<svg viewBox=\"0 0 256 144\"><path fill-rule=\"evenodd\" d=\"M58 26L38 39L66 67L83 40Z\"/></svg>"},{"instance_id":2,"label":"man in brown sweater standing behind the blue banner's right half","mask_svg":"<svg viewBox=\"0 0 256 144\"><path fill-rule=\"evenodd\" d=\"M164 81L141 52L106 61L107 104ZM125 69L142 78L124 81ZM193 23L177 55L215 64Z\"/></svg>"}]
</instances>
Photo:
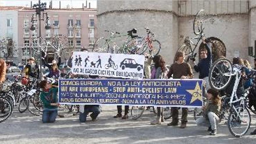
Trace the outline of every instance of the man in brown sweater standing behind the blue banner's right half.
<instances>
[{"instance_id":1,"label":"man in brown sweater standing behind the blue banner's right half","mask_svg":"<svg viewBox=\"0 0 256 144\"><path fill-rule=\"evenodd\" d=\"M191 79L193 78L193 72L188 63L184 62L184 53L177 51L174 58L175 62L170 66L169 72L167 74L168 79L173 77L173 79ZM179 123L179 111L178 107L172 107L172 122L168 123L167 126L177 126ZM186 127L188 117L188 108L182 108L182 118L180 128L184 129Z\"/></svg>"}]
</instances>

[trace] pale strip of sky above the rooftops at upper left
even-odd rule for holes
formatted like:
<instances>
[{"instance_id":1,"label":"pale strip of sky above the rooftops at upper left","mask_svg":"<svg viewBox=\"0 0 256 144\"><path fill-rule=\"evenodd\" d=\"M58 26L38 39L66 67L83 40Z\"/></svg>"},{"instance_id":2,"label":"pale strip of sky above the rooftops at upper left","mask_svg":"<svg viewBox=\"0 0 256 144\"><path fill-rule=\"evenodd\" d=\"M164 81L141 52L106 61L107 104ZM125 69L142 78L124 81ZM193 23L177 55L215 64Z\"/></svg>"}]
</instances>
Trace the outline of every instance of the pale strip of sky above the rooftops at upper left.
<instances>
[{"instance_id":1,"label":"pale strip of sky above the rooftops at upper left","mask_svg":"<svg viewBox=\"0 0 256 144\"><path fill-rule=\"evenodd\" d=\"M30 7L30 2L32 1L32 5L38 3L38 0L0 0L0 6L24 6ZM52 1L52 8L59 8L60 0L41 0L41 2L47 3L47 8L49 8L50 1ZM67 5L70 8L82 8L82 5L86 6L86 0L61 0L61 8L67 8ZM87 0L87 7L89 7L89 3L91 8L97 7L97 0Z\"/></svg>"}]
</instances>

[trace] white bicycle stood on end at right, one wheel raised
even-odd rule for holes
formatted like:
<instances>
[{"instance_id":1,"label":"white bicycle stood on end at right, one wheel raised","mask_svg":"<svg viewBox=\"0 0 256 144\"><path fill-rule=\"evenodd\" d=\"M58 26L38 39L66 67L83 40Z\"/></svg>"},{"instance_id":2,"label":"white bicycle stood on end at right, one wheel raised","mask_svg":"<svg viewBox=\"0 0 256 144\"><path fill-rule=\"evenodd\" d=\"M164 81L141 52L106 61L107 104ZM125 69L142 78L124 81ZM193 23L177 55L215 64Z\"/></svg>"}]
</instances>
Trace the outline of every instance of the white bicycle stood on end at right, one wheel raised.
<instances>
[{"instance_id":1,"label":"white bicycle stood on end at right, one wheel raised","mask_svg":"<svg viewBox=\"0 0 256 144\"><path fill-rule=\"evenodd\" d=\"M231 77L235 77L234 87L228 105L230 113L227 125L230 133L235 137L241 137L250 128L251 117L246 107L246 97L237 96L237 87L241 78L241 68L232 66L226 58L220 58L214 62L209 72L210 86L216 90L225 89L231 82Z\"/></svg>"}]
</instances>

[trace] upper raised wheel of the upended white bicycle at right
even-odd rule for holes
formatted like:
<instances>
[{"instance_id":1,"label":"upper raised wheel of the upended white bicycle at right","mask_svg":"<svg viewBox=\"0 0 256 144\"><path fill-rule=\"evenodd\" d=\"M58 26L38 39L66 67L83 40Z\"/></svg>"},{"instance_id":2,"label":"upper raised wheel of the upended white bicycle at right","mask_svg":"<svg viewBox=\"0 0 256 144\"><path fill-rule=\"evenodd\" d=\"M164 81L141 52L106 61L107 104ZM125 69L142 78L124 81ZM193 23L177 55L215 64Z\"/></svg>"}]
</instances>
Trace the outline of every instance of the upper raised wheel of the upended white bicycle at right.
<instances>
[{"instance_id":1,"label":"upper raised wheel of the upended white bicycle at right","mask_svg":"<svg viewBox=\"0 0 256 144\"><path fill-rule=\"evenodd\" d=\"M209 84L211 88L222 90L226 88L231 80L232 64L226 58L220 58L213 63L209 72Z\"/></svg>"}]
</instances>

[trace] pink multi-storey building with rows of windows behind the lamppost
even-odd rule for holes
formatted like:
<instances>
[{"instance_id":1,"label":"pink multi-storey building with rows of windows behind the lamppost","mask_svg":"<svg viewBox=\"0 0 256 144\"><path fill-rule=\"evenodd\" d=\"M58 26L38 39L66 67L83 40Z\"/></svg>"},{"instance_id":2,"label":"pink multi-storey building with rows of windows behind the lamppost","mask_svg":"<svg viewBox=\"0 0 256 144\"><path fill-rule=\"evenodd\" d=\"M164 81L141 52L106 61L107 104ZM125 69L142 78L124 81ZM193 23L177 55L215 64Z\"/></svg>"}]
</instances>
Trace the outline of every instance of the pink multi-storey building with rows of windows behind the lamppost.
<instances>
[{"instance_id":1,"label":"pink multi-storey building with rows of windows behind the lamppost","mask_svg":"<svg viewBox=\"0 0 256 144\"><path fill-rule=\"evenodd\" d=\"M69 57L70 51L80 51L83 48L90 49L93 47L97 33L96 9L47 9L44 12L48 13L48 24L51 29L46 30L46 22L41 21L42 38L52 41L56 35L61 34L67 38L70 45L69 49L62 53L63 62ZM32 52L32 45L37 45L36 38L39 36L38 21L34 22L36 25L35 31L30 30L33 14L35 14L35 10L31 8L23 8L18 11L18 47L19 58L22 63L26 63L32 53L34 57L39 55ZM38 17L35 17L35 19L38 19ZM48 53L47 61L50 63L54 59L54 49L48 49Z\"/></svg>"}]
</instances>

